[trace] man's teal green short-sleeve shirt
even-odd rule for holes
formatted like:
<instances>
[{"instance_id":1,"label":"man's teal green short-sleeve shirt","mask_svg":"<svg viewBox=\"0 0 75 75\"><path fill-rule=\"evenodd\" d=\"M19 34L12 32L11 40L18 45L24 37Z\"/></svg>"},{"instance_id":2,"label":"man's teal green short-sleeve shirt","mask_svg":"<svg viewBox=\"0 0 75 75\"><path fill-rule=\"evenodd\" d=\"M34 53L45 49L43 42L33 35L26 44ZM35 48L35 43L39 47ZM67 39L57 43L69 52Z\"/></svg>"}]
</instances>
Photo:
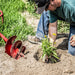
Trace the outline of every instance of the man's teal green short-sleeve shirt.
<instances>
[{"instance_id":1,"label":"man's teal green short-sleeve shirt","mask_svg":"<svg viewBox=\"0 0 75 75\"><path fill-rule=\"evenodd\" d=\"M55 11L49 11L50 23L56 20L75 22L75 0L61 0L61 6Z\"/></svg>"}]
</instances>

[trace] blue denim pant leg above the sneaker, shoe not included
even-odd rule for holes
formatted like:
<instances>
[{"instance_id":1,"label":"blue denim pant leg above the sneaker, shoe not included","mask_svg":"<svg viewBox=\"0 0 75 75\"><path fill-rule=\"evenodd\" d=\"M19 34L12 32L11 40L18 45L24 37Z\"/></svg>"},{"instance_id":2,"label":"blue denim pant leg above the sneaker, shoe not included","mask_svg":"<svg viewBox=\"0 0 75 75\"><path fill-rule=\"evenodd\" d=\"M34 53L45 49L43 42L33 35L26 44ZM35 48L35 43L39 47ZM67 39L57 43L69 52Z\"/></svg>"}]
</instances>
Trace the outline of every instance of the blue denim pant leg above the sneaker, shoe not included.
<instances>
[{"instance_id":1,"label":"blue denim pant leg above the sneaker, shoe not included","mask_svg":"<svg viewBox=\"0 0 75 75\"><path fill-rule=\"evenodd\" d=\"M38 23L36 37L42 39L44 38L44 35L48 35L48 26L49 26L49 11L44 11Z\"/></svg>"}]
</instances>

